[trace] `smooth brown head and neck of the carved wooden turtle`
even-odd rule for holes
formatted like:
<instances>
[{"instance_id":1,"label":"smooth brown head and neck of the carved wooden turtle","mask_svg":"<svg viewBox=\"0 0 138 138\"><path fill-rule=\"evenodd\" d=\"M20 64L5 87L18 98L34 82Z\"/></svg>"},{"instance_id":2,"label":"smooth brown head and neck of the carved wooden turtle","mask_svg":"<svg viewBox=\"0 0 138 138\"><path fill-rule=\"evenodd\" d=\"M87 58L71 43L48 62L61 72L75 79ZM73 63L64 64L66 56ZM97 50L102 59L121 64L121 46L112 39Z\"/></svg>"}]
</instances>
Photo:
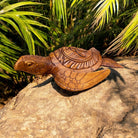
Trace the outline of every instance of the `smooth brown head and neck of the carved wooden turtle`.
<instances>
[{"instance_id":1,"label":"smooth brown head and neck of the carved wooden turtle","mask_svg":"<svg viewBox=\"0 0 138 138\"><path fill-rule=\"evenodd\" d=\"M17 60L14 69L34 75L44 75L48 73L50 68L49 62L49 57L24 55Z\"/></svg>"}]
</instances>

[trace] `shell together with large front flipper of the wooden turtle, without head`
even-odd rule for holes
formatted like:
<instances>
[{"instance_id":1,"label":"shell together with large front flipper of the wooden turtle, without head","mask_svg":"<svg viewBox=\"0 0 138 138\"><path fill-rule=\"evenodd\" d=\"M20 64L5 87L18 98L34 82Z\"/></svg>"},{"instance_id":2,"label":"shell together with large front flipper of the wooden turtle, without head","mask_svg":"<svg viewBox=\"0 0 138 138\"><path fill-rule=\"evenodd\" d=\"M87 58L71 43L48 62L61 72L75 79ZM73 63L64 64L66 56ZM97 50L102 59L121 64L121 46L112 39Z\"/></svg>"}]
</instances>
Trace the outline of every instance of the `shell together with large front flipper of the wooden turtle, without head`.
<instances>
[{"instance_id":1,"label":"shell together with large front flipper of the wooden turtle, without head","mask_svg":"<svg viewBox=\"0 0 138 138\"><path fill-rule=\"evenodd\" d=\"M82 91L93 87L110 74L109 69L94 72L102 64L100 52L95 48L84 50L62 47L49 56L55 82L69 91Z\"/></svg>"}]
</instances>

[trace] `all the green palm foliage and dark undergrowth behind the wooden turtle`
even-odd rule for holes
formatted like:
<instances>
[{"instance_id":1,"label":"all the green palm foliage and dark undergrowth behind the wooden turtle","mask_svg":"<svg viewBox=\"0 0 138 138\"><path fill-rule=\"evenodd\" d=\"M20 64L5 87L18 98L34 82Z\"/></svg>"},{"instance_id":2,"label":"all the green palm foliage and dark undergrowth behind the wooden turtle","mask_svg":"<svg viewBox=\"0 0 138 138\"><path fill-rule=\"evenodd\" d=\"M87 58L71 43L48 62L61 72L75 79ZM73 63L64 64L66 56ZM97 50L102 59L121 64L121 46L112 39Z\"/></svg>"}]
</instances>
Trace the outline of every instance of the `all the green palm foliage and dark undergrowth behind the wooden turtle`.
<instances>
[{"instance_id":1,"label":"all the green palm foliage and dark undergrowth behind the wooden turtle","mask_svg":"<svg viewBox=\"0 0 138 138\"><path fill-rule=\"evenodd\" d=\"M137 0L1 0L0 96L15 95L33 76L16 72L25 54L62 46L96 47L108 56L137 55Z\"/></svg>"}]
</instances>

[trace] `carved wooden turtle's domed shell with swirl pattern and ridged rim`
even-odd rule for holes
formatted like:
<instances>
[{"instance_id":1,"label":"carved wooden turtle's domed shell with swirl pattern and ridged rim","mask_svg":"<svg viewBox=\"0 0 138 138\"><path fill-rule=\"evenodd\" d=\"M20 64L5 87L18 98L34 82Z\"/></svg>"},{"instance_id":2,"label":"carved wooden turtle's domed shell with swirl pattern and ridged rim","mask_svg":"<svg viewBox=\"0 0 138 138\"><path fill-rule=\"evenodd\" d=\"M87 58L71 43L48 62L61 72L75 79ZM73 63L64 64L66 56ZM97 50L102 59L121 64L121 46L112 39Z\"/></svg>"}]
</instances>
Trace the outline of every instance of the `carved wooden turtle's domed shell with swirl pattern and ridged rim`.
<instances>
[{"instance_id":1,"label":"carved wooden turtle's domed shell with swirl pattern and ridged rim","mask_svg":"<svg viewBox=\"0 0 138 138\"><path fill-rule=\"evenodd\" d=\"M73 70L95 71L102 64L100 52L95 48L84 50L76 47L62 47L51 53L50 56L57 59L56 66L61 64Z\"/></svg>"}]
</instances>

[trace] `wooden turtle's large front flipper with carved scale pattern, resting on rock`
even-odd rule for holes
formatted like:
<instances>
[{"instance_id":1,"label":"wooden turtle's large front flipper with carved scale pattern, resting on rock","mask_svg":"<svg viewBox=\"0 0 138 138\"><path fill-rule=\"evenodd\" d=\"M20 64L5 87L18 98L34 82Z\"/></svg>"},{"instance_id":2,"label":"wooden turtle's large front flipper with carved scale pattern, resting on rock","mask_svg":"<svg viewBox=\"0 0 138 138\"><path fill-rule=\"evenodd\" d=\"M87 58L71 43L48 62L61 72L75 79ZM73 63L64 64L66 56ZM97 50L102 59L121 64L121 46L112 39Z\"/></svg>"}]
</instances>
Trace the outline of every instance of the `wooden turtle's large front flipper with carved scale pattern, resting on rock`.
<instances>
[{"instance_id":1,"label":"wooden turtle's large front flipper with carved scale pattern, resting on rock","mask_svg":"<svg viewBox=\"0 0 138 138\"><path fill-rule=\"evenodd\" d=\"M61 88L69 91L82 91L89 89L110 74L109 69L96 72L80 72L80 71L59 71L54 75L54 80Z\"/></svg>"}]
</instances>

